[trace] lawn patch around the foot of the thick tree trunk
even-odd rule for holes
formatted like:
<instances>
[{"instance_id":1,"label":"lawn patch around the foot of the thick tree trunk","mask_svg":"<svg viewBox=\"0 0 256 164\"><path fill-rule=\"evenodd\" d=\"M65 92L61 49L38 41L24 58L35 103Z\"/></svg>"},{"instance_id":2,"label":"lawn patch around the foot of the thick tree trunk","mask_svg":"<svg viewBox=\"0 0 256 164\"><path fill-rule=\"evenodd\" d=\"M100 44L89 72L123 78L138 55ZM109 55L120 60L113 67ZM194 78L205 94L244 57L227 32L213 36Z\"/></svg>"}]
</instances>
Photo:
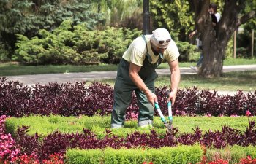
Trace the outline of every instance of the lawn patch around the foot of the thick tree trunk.
<instances>
[{"instance_id":1,"label":"lawn patch around the foot of the thick tree trunk","mask_svg":"<svg viewBox=\"0 0 256 164\"><path fill-rule=\"evenodd\" d=\"M224 76L218 78L207 79L197 74L181 74L181 82L179 89L197 86L199 90L243 90L245 92L256 90L255 85L256 71L233 71L224 73ZM115 79L102 80L113 86ZM170 76L159 76L155 81L156 87L170 85Z\"/></svg>"}]
</instances>

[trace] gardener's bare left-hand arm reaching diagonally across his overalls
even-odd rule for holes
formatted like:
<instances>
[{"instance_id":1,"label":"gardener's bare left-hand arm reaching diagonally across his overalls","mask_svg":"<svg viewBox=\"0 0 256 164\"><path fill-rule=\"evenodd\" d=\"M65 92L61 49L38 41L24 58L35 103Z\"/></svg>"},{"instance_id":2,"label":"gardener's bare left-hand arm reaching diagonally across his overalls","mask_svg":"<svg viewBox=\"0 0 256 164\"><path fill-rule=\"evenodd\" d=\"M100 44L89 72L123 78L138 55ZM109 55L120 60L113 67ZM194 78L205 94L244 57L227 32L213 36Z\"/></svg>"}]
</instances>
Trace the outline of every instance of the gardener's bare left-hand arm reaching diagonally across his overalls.
<instances>
[{"instance_id":1,"label":"gardener's bare left-hand arm reaching diagonally across his overalls","mask_svg":"<svg viewBox=\"0 0 256 164\"><path fill-rule=\"evenodd\" d=\"M135 83L135 85L143 91L143 93L146 94L148 98L148 102L154 106L154 102L157 102L157 95L151 92L151 90L148 89L148 87L145 85L143 80L139 76L141 66L137 66L134 63L129 64L129 77L132 79L132 82Z\"/></svg>"}]
</instances>

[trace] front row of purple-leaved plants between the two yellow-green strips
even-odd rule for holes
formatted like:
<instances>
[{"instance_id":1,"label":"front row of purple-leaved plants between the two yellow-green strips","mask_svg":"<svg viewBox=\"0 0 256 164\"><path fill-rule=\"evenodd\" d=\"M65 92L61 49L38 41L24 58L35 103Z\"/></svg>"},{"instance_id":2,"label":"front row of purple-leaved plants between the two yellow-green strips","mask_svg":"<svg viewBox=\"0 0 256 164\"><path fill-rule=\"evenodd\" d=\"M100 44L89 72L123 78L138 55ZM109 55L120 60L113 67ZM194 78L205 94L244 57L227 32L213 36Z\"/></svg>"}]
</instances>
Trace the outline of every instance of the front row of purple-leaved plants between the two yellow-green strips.
<instances>
[{"instance_id":1,"label":"front row of purple-leaved plants between the two yellow-green strips","mask_svg":"<svg viewBox=\"0 0 256 164\"><path fill-rule=\"evenodd\" d=\"M2 131L4 132L4 126L1 125L1 127L3 127ZM58 159L62 161L69 148L107 149L108 147L112 147L113 149L121 149L126 147L127 149L131 149L146 147L147 149L160 149L162 147L176 147L178 145L195 145L200 143L206 145L207 149L209 149L210 147L225 148L228 145L232 146L235 144L246 147L250 144L255 145L256 142L255 122L249 122L249 126L244 133L240 130L223 126L222 131L208 130L205 134L197 128L194 133L177 136L178 129L176 128L172 133L166 133L165 136L159 136L154 130L151 130L151 133L135 131L126 137L119 137L113 135L110 130L106 130L105 137L100 139L88 129L84 129L83 133L60 133L55 131L45 137L38 136L37 133L33 136L28 135L28 129L26 126L18 128L14 139L11 140L11 147L8 147L10 149L9 152L12 152L13 149L18 149L18 153L12 157L10 155L6 156L3 160L20 160L20 157L24 157L23 155L28 155L25 157L43 162L44 160L52 160L50 157L57 153ZM244 155L254 154L246 153Z\"/></svg>"}]
</instances>

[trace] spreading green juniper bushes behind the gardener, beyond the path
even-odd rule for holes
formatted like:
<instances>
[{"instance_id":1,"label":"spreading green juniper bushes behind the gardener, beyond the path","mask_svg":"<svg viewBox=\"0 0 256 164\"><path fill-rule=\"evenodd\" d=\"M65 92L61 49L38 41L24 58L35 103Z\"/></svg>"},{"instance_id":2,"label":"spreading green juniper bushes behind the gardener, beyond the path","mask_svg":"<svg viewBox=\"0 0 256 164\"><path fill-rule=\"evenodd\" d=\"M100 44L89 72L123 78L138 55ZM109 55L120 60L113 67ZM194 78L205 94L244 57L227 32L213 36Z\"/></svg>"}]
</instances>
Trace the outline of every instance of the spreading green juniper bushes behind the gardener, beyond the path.
<instances>
[{"instance_id":1,"label":"spreading green juniper bushes behind the gardener, beyond the path","mask_svg":"<svg viewBox=\"0 0 256 164\"><path fill-rule=\"evenodd\" d=\"M72 26L72 20L64 20L53 32L39 30L40 37L29 39L19 34L12 60L31 65L117 64L132 40L140 35L141 31L127 28L89 31L86 24ZM177 46L181 61L197 60L195 45L177 42Z\"/></svg>"}]
</instances>

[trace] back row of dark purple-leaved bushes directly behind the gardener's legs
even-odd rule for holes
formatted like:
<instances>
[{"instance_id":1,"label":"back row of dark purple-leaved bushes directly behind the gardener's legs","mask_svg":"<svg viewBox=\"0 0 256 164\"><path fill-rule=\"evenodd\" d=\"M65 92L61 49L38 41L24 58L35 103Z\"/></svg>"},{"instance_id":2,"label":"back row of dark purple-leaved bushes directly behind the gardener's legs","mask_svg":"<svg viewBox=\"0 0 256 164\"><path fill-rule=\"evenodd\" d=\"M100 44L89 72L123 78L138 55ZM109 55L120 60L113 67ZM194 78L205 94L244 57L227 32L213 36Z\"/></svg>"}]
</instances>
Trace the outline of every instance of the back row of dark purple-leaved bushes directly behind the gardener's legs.
<instances>
[{"instance_id":1,"label":"back row of dark purple-leaved bushes directly behind the gardener's legs","mask_svg":"<svg viewBox=\"0 0 256 164\"><path fill-rule=\"evenodd\" d=\"M49 83L31 87L19 82L0 79L0 114L23 117L30 114L61 114L78 116L84 114L101 116L111 113L113 108L113 87L94 82L86 87L86 82ZM157 100L167 115L167 87L156 88ZM100 101L95 101L100 100ZM197 87L178 90L176 103L172 106L175 115L255 115L256 91L246 95L238 90L236 95L218 95L216 91L198 90ZM138 114L135 93L127 109L127 120ZM157 114L157 112L155 112Z\"/></svg>"}]
</instances>

